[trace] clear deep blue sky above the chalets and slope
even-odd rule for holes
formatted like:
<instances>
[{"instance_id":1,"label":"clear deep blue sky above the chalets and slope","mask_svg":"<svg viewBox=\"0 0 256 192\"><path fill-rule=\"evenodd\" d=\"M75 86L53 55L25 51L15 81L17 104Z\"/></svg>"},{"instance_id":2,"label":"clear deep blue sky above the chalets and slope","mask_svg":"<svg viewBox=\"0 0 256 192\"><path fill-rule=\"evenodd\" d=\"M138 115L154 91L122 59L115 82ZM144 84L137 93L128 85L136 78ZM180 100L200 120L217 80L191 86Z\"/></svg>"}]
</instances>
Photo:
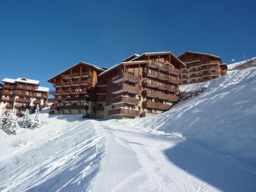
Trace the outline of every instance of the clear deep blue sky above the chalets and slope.
<instances>
[{"instance_id":1,"label":"clear deep blue sky above the chalets and slope","mask_svg":"<svg viewBox=\"0 0 256 192\"><path fill-rule=\"evenodd\" d=\"M110 67L137 53L256 56L256 2L0 1L0 78L47 79L84 61Z\"/></svg>"}]
</instances>

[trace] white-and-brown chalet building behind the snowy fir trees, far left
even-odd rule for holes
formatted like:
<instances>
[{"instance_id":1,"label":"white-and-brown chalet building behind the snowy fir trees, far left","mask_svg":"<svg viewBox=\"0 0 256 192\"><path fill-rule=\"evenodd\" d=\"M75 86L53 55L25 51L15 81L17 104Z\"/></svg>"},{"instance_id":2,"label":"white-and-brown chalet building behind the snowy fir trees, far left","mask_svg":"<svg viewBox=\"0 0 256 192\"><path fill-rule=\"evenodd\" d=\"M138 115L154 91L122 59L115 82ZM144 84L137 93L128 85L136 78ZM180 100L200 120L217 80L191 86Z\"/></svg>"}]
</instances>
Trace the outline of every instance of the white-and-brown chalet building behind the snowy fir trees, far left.
<instances>
[{"instance_id":1,"label":"white-and-brown chalet building behind the snowy fir trees, far left","mask_svg":"<svg viewBox=\"0 0 256 192\"><path fill-rule=\"evenodd\" d=\"M49 88L39 86L39 81L23 78L2 80L0 84L0 113L16 108L17 115L23 116L26 109L33 113L36 105L40 110L47 106Z\"/></svg>"}]
</instances>

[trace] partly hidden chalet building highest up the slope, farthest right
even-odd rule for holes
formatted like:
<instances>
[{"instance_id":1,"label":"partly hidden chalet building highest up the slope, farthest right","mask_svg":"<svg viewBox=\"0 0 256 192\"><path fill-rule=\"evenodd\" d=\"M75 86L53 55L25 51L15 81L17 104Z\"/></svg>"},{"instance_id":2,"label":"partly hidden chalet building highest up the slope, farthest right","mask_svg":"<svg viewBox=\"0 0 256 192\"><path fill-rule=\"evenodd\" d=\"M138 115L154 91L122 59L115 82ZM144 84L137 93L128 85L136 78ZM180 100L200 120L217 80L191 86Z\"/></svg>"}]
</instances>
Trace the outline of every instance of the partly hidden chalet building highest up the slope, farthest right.
<instances>
[{"instance_id":1,"label":"partly hidden chalet building highest up the slope, farthest right","mask_svg":"<svg viewBox=\"0 0 256 192\"><path fill-rule=\"evenodd\" d=\"M186 51L178 58L186 65L182 68L182 84L205 82L227 74L227 65L215 55Z\"/></svg>"}]
</instances>

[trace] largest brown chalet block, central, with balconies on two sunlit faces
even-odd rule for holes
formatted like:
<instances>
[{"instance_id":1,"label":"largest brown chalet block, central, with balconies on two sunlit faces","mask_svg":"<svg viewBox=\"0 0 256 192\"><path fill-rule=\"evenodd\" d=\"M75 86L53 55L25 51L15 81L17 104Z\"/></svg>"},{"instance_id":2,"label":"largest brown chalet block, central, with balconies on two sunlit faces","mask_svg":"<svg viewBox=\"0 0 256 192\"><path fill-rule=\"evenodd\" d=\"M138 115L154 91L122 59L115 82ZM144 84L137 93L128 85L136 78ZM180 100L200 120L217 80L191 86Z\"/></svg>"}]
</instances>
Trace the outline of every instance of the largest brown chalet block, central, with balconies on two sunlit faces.
<instances>
[{"instance_id":1,"label":"largest brown chalet block, central, with balconies on two sunlit faces","mask_svg":"<svg viewBox=\"0 0 256 192\"><path fill-rule=\"evenodd\" d=\"M139 118L169 110L178 101L182 68L186 66L171 52L156 52L134 54L101 72L98 78L106 86L103 118Z\"/></svg>"}]
</instances>

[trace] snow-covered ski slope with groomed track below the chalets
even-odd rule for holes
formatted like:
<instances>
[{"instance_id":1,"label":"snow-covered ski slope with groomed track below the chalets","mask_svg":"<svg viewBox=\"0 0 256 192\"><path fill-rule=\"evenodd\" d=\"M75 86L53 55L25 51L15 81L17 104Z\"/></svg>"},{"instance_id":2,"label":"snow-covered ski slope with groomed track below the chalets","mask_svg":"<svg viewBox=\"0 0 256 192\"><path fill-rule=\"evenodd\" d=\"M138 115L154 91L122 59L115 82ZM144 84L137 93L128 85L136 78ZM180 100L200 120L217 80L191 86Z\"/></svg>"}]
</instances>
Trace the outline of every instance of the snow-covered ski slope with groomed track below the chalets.
<instances>
[{"instance_id":1,"label":"snow-covered ski slope with groomed track below the chalets","mask_svg":"<svg viewBox=\"0 0 256 192\"><path fill-rule=\"evenodd\" d=\"M255 83L256 68L234 70L138 120L44 111L37 130L0 131L0 191L255 192Z\"/></svg>"}]
</instances>

